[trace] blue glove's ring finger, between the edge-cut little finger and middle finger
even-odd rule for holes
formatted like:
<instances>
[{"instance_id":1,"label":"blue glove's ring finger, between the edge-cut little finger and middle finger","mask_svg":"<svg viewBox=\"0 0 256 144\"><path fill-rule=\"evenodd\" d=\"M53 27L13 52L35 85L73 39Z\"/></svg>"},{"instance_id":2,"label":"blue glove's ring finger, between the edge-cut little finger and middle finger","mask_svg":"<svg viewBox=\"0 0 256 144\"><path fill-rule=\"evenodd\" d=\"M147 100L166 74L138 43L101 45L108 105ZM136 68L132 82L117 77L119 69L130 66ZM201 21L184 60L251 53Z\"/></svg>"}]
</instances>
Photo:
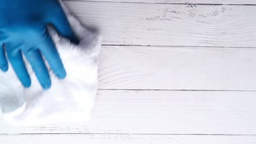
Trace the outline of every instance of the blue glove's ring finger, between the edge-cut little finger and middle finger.
<instances>
[{"instance_id":1,"label":"blue glove's ring finger, between the edge-cut little finger and middle finger","mask_svg":"<svg viewBox=\"0 0 256 144\"><path fill-rule=\"evenodd\" d=\"M24 85L24 87L30 87L31 80L30 76L27 73L27 69L23 61L21 51L14 52L7 49L7 56L9 62L11 63L11 66L13 67L22 85Z\"/></svg>"}]
</instances>

